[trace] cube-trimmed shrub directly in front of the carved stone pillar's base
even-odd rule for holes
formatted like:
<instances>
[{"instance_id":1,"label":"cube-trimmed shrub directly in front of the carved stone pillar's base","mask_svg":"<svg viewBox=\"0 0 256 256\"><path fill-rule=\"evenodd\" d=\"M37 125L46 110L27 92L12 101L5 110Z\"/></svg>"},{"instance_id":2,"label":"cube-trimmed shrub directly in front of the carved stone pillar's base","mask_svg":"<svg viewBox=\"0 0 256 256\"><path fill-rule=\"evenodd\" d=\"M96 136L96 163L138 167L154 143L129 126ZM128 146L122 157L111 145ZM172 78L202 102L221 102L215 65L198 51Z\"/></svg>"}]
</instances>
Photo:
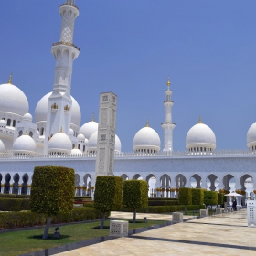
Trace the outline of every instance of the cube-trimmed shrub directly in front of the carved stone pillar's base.
<instances>
[{"instance_id":1,"label":"cube-trimmed shrub directly in front of the carved stone pillar's base","mask_svg":"<svg viewBox=\"0 0 256 256\"><path fill-rule=\"evenodd\" d=\"M94 192L94 208L102 213L101 229L104 226L105 213L121 208L122 187L122 177L97 176Z\"/></svg>"}]
</instances>

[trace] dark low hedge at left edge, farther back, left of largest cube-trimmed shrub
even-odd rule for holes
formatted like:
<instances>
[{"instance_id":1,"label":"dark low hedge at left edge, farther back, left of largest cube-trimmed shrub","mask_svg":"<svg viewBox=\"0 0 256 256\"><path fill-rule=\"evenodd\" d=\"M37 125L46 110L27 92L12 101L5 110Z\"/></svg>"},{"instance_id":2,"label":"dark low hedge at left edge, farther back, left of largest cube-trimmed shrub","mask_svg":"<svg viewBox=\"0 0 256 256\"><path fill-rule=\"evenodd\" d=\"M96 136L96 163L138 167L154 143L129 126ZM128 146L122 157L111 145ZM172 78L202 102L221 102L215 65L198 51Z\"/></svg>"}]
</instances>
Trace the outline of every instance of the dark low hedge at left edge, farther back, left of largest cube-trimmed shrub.
<instances>
[{"instance_id":1,"label":"dark low hedge at left edge, farther back, left of largest cube-trimmed shrub","mask_svg":"<svg viewBox=\"0 0 256 256\"><path fill-rule=\"evenodd\" d=\"M27 198L1 198L0 211L20 211L29 209L29 199Z\"/></svg>"}]
</instances>

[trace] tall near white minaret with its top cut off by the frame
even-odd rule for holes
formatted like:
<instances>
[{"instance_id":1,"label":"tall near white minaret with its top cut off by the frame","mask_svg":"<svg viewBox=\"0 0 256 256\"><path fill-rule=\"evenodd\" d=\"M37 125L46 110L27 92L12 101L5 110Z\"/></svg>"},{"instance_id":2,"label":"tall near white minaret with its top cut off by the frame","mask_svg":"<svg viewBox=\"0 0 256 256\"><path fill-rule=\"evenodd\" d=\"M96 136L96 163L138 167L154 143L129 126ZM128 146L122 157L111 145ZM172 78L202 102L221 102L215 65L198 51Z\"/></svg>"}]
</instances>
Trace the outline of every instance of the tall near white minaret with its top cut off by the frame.
<instances>
[{"instance_id":1,"label":"tall near white minaret with its top cut off by the frame","mask_svg":"<svg viewBox=\"0 0 256 256\"><path fill-rule=\"evenodd\" d=\"M70 97L73 61L80 54L80 48L73 44L75 19L79 9L75 0L66 0L60 5L62 17L60 39L54 43L51 52L56 59L52 94L48 98L48 119L45 135L44 154L48 153L48 139L62 129L69 135L72 100Z\"/></svg>"}]
</instances>

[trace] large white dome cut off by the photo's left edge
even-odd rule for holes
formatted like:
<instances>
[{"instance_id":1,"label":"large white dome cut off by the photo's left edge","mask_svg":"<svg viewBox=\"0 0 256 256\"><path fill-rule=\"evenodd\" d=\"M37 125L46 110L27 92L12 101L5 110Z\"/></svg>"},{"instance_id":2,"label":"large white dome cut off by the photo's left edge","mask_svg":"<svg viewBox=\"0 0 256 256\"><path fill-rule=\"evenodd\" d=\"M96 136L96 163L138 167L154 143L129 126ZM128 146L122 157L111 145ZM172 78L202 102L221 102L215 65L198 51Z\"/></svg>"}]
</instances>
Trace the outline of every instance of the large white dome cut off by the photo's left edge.
<instances>
[{"instance_id":1,"label":"large white dome cut off by the photo's left edge","mask_svg":"<svg viewBox=\"0 0 256 256\"><path fill-rule=\"evenodd\" d=\"M28 112L28 101L23 91L11 83L0 85L0 112L24 115Z\"/></svg>"}]
</instances>

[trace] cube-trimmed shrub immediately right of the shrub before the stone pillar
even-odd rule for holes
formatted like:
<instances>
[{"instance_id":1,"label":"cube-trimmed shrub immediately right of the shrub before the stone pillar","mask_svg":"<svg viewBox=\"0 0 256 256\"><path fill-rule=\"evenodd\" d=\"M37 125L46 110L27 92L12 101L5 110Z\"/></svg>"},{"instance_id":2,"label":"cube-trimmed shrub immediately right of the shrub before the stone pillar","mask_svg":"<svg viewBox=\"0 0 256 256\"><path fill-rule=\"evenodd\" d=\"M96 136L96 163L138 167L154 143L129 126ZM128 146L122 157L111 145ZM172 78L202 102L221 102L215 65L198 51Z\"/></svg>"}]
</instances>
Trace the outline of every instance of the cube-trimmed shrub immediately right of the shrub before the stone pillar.
<instances>
[{"instance_id":1,"label":"cube-trimmed shrub immediately right of the shrub before the stone pillar","mask_svg":"<svg viewBox=\"0 0 256 256\"><path fill-rule=\"evenodd\" d=\"M136 209L148 206L148 185L145 180L125 180L123 182L123 207L133 208L133 223L136 222Z\"/></svg>"}]
</instances>

